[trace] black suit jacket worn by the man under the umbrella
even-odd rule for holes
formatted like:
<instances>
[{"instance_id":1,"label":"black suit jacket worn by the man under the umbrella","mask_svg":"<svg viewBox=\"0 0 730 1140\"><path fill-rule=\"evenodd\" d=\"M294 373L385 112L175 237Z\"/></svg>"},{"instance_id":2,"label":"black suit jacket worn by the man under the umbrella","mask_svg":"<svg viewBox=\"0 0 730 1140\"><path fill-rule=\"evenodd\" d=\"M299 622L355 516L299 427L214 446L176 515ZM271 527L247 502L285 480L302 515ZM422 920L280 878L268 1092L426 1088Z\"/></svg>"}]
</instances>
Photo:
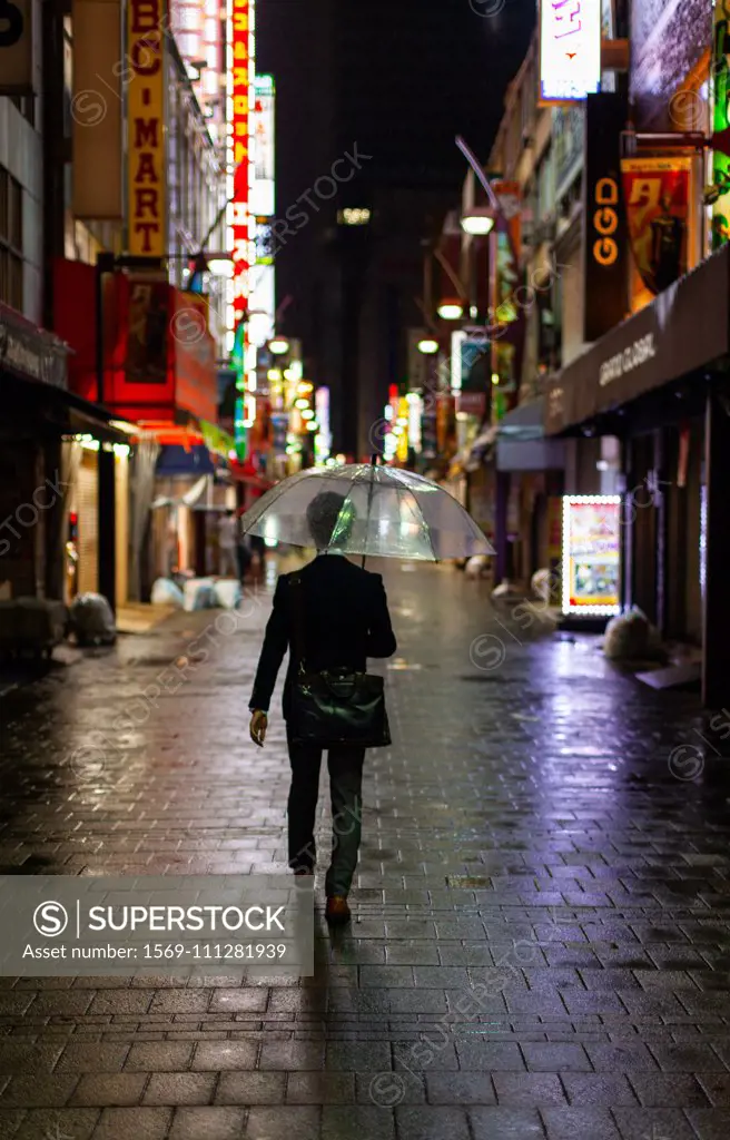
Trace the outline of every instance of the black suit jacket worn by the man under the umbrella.
<instances>
[{"instance_id":1,"label":"black suit jacket worn by the man under the umbrella","mask_svg":"<svg viewBox=\"0 0 730 1140\"><path fill-rule=\"evenodd\" d=\"M296 571L304 612L305 665L310 671L338 666L363 673L369 657L395 653L387 600L379 573L362 570L341 554L320 554L303 570ZM249 708L269 710L271 694L287 649L296 644L289 580L280 576L273 595L273 609L266 625ZM284 685L284 716L288 715L289 693L296 652L289 653Z\"/></svg>"}]
</instances>

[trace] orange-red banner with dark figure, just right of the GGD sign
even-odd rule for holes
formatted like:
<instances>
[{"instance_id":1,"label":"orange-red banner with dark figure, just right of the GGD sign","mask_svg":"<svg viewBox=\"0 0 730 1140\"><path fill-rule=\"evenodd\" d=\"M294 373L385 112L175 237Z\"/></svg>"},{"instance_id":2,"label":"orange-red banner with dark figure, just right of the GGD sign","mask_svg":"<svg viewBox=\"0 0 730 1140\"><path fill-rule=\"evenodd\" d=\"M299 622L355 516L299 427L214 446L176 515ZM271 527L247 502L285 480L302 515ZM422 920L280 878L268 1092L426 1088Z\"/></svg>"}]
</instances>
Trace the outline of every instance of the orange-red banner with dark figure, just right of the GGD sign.
<instances>
[{"instance_id":1,"label":"orange-red banner with dark figure, just right of the GGD sign","mask_svg":"<svg viewBox=\"0 0 730 1140\"><path fill-rule=\"evenodd\" d=\"M692 268L695 221L690 157L624 158L621 163L635 267L650 293Z\"/></svg>"}]
</instances>

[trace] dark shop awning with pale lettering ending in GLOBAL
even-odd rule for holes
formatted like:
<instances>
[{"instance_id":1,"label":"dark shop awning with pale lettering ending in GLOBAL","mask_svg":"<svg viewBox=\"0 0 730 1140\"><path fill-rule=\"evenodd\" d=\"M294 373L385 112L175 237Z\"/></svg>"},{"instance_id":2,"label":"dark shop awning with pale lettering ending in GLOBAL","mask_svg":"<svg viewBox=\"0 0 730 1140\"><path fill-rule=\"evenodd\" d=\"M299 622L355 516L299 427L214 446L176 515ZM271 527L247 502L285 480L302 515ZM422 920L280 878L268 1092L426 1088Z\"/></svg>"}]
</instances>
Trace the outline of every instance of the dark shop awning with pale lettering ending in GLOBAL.
<instances>
[{"instance_id":1,"label":"dark shop awning with pale lettering ending in GLOBAL","mask_svg":"<svg viewBox=\"0 0 730 1140\"><path fill-rule=\"evenodd\" d=\"M546 434L571 433L653 389L710 368L730 352L729 303L725 245L550 378Z\"/></svg>"}]
</instances>

